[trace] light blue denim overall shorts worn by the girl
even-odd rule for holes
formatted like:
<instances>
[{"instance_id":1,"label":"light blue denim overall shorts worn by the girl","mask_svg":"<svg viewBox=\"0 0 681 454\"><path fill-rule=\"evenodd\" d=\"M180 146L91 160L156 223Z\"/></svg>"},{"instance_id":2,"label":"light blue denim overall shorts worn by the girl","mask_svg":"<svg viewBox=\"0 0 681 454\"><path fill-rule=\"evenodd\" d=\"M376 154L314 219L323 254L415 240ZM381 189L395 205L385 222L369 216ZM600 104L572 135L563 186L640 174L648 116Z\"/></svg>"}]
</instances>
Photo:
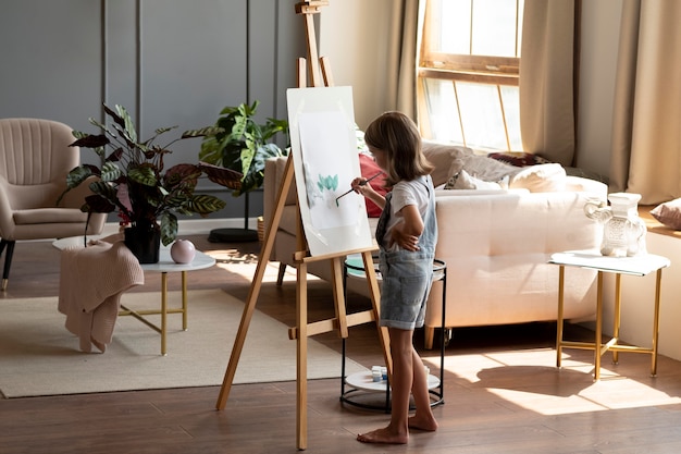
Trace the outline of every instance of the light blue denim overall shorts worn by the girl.
<instances>
[{"instance_id":1,"label":"light blue denim overall shorts worn by the girl","mask_svg":"<svg viewBox=\"0 0 681 454\"><path fill-rule=\"evenodd\" d=\"M391 216L391 197L385 197L385 207L376 225L376 240L381 250L379 270L381 272L381 326L413 330L423 326L425 302L433 283L433 259L437 243L435 218L435 192L430 176L421 177L429 192L430 201L423 217L423 233L419 237L420 250L399 248L387 251L382 244L385 225Z\"/></svg>"}]
</instances>

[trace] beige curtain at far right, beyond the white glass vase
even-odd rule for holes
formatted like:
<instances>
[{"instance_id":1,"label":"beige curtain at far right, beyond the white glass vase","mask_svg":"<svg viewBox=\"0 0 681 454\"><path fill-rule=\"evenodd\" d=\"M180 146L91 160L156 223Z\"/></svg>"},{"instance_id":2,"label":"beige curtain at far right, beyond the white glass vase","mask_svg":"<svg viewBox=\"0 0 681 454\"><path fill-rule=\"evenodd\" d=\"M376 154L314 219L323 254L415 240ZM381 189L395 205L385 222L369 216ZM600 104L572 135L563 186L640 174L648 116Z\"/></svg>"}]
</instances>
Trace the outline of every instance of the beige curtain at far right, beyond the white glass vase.
<instances>
[{"instance_id":1,"label":"beige curtain at far right, beyond the white glass vase","mask_svg":"<svg viewBox=\"0 0 681 454\"><path fill-rule=\"evenodd\" d=\"M624 0L610 189L642 205L681 197L681 1Z\"/></svg>"}]
</instances>

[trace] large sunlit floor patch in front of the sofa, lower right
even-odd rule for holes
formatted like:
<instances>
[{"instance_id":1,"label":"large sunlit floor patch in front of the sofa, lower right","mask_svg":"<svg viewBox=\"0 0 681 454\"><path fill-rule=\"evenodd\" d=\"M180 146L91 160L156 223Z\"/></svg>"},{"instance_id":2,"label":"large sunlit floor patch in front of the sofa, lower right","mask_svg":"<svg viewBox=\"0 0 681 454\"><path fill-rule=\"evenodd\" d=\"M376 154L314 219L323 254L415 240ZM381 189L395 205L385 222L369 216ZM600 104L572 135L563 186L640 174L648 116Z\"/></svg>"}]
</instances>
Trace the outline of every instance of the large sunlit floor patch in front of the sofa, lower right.
<instances>
[{"instance_id":1,"label":"large sunlit floor patch in front of the sofa, lower right","mask_svg":"<svg viewBox=\"0 0 681 454\"><path fill-rule=\"evenodd\" d=\"M600 380L594 382L593 364L582 360L592 356L582 356L566 353L557 369L554 348L450 355L445 357L445 370L450 373L445 380L463 389L484 388L498 397L497 405L541 415L681 404L678 396L656 389L655 378L620 376L609 357L604 357ZM637 361L636 368L648 368L647 358ZM620 357L620 364L627 359ZM432 367L439 365L438 357L424 360Z\"/></svg>"}]
</instances>

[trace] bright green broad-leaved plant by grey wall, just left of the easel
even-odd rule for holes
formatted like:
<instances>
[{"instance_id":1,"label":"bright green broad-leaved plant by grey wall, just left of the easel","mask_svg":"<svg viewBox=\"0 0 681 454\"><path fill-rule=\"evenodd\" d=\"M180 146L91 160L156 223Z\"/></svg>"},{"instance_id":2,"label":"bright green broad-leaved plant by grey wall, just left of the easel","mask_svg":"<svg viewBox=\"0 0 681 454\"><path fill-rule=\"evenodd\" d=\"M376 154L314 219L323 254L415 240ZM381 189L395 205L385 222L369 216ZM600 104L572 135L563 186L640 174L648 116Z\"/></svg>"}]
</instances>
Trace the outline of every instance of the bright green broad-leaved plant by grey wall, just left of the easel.
<instances>
[{"instance_id":1,"label":"bright green broad-leaved plant by grey wall, just left of the easel","mask_svg":"<svg viewBox=\"0 0 681 454\"><path fill-rule=\"evenodd\" d=\"M214 124L214 134L206 134L201 142L200 161L242 175L228 186L235 197L262 186L267 159L288 154L273 142L278 133L288 137L288 122L268 118L264 124L258 124L253 116L259 103L256 100L250 106L225 107Z\"/></svg>"}]
</instances>

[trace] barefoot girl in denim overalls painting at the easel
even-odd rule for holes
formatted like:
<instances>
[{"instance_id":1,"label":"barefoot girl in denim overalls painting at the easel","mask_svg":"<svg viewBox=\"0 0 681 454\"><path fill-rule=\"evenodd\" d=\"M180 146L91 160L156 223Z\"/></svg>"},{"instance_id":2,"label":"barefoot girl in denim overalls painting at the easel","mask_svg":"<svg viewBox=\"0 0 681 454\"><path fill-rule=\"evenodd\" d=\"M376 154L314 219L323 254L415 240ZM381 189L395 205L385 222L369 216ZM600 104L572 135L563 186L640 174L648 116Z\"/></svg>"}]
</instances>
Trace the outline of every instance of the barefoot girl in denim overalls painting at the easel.
<instances>
[{"instance_id":1,"label":"barefoot girl in denim overalls painting at the easel","mask_svg":"<svg viewBox=\"0 0 681 454\"><path fill-rule=\"evenodd\" d=\"M393 359L392 414L385 428L362 433L364 443L409 441L409 429L437 429L431 410L428 377L412 344L413 330L423 326L437 242L433 167L421 154L421 136L405 114L386 112L367 128L364 142L387 175L392 192L376 193L364 179L352 189L383 209L376 226L380 246L381 326L388 328ZM410 394L416 414L409 416Z\"/></svg>"}]
</instances>

